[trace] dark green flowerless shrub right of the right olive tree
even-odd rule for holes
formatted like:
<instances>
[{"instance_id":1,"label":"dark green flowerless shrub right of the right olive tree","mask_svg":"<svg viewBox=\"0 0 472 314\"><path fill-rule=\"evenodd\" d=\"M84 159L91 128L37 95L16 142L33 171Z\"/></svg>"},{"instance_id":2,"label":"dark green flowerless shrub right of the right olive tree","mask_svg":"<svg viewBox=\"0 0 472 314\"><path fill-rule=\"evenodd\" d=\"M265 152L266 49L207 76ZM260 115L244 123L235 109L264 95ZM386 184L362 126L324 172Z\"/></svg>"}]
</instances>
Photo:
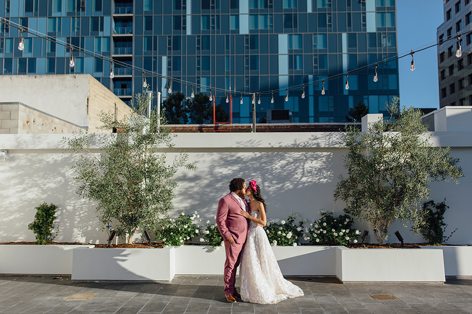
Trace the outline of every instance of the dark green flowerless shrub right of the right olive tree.
<instances>
[{"instance_id":1,"label":"dark green flowerless shrub right of the right olive tree","mask_svg":"<svg viewBox=\"0 0 472 314\"><path fill-rule=\"evenodd\" d=\"M419 233L428 241L428 244L438 245L444 243L457 230L456 228L449 236L444 236L444 229L447 227L444 223L444 212L449 208L449 206L445 204L445 201L446 199L437 204L435 204L434 201L425 202L423 204L425 223L418 229Z\"/></svg>"}]
</instances>

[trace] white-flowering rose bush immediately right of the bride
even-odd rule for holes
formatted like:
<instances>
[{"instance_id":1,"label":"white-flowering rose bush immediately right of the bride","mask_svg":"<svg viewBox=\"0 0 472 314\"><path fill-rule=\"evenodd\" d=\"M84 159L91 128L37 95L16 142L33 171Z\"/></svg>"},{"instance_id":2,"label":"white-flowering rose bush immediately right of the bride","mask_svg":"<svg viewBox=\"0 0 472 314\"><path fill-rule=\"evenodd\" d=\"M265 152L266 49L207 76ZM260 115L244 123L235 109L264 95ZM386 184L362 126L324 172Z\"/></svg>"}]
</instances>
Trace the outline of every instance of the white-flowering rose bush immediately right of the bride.
<instances>
[{"instance_id":1,"label":"white-flowering rose bush immediately right of the bride","mask_svg":"<svg viewBox=\"0 0 472 314\"><path fill-rule=\"evenodd\" d=\"M297 241L298 238L303 235L303 224L306 220L301 219L297 225L295 224L296 218L298 218L298 215L292 212L287 218L287 221L267 221L264 230L266 231L270 245L296 246L299 244Z\"/></svg>"}]
</instances>

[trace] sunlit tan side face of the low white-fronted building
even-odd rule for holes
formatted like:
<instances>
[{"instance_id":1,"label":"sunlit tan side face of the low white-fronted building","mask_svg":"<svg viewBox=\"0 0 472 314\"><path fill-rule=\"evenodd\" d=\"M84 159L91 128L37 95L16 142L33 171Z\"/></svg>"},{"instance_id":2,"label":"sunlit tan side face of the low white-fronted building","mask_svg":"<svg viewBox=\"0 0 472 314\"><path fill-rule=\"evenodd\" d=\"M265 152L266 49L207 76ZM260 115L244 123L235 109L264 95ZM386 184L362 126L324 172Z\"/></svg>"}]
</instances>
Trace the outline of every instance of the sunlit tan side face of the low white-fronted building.
<instances>
[{"instance_id":1,"label":"sunlit tan side face of the low white-fronted building","mask_svg":"<svg viewBox=\"0 0 472 314\"><path fill-rule=\"evenodd\" d=\"M115 105L117 108L117 118L121 120L129 115L131 108L121 99L113 94L108 88L103 86L93 77L89 78L89 132L105 132L97 128L102 125L100 122L100 111L111 112L115 114Z\"/></svg>"}]
</instances>

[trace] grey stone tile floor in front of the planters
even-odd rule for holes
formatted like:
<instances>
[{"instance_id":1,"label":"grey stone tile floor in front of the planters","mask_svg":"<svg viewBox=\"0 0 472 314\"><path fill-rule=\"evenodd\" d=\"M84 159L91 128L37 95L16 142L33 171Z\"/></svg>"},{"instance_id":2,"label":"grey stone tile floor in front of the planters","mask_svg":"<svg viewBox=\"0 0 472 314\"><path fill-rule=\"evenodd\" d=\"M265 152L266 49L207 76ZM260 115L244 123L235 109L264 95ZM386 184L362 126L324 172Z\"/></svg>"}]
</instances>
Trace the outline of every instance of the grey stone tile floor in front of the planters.
<instances>
[{"instance_id":1,"label":"grey stone tile floor in front of the planters","mask_svg":"<svg viewBox=\"0 0 472 314\"><path fill-rule=\"evenodd\" d=\"M472 280L444 285L342 285L332 278L295 278L305 296L277 305L225 302L223 279L179 277L159 283L73 283L70 277L0 276L0 313L472 313ZM68 300L73 294L94 294ZM397 300L375 300L392 294Z\"/></svg>"}]
</instances>

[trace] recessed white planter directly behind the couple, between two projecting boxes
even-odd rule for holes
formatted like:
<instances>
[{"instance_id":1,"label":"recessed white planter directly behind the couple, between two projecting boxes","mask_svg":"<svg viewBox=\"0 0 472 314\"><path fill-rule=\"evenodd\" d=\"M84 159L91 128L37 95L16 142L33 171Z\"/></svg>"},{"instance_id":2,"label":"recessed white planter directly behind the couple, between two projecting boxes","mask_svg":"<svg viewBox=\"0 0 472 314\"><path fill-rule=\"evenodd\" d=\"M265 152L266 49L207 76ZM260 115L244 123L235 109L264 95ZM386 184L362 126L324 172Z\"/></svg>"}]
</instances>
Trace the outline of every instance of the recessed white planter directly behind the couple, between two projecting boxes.
<instances>
[{"instance_id":1,"label":"recessed white planter directly behind the couple, between two projecting boxes","mask_svg":"<svg viewBox=\"0 0 472 314\"><path fill-rule=\"evenodd\" d=\"M273 246L280 270L286 276L334 276L335 246ZM184 245L175 247L177 275L223 276L225 248ZM239 268L238 268L239 269Z\"/></svg>"}]
</instances>

